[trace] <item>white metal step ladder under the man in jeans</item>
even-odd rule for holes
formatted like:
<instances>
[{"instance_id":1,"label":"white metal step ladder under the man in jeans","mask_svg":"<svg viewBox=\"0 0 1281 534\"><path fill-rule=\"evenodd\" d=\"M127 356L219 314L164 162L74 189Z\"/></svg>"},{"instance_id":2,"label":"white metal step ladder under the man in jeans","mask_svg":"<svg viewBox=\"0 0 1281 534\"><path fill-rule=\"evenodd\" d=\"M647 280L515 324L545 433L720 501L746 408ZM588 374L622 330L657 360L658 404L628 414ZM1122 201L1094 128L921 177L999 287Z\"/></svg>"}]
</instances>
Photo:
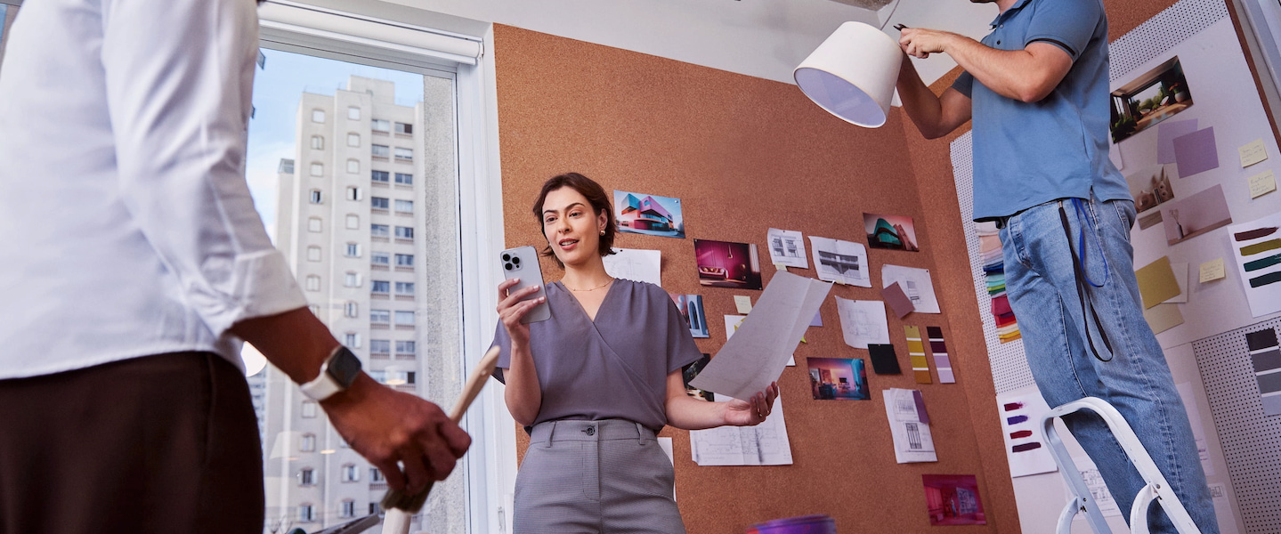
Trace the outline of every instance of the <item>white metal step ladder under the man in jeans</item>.
<instances>
[{"instance_id":1,"label":"white metal step ladder under the man in jeans","mask_svg":"<svg viewBox=\"0 0 1281 534\"><path fill-rule=\"evenodd\" d=\"M1095 534L1108 534L1112 531L1112 528L1103 519L1099 505L1094 502L1090 489L1085 485L1081 471L1072 464L1072 456L1067 452L1067 447L1063 446L1063 441L1058 437L1058 430L1054 428L1056 419L1081 410L1090 410L1103 417L1103 421L1108 424L1108 429L1112 430L1112 435L1117 438L1121 448L1130 457L1130 464L1134 464L1139 470L1139 475L1148 483L1135 496L1134 506L1130 507L1130 533L1149 533L1148 507L1152 501L1157 501L1175 524L1179 534L1200 534L1200 529L1196 528L1191 516L1187 515L1187 510L1184 508L1184 503L1179 501L1170 484L1166 483L1166 478L1157 469L1157 464L1152 461L1152 456L1148 456L1148 451L1143 448L1143 443L1139 442L1139 437L1134 434L1130 424L1126 423L1117 409L1098 397L1085 397L1080 401L1068 402L1050 410L1041 417L1041 429L1045 433L1050 455L1054 456L1054 464L1058 464L1059 473L1067 479L1067 485L1075 496L1067 503L1067 507L1063 508L1063 512L1059 514L1056 531L1058 534L1071 534L1072 519L1080 512L1085 512L1085 517L1089 520L1090 528L1094 529Z\"/></svg>"}]
</instances>

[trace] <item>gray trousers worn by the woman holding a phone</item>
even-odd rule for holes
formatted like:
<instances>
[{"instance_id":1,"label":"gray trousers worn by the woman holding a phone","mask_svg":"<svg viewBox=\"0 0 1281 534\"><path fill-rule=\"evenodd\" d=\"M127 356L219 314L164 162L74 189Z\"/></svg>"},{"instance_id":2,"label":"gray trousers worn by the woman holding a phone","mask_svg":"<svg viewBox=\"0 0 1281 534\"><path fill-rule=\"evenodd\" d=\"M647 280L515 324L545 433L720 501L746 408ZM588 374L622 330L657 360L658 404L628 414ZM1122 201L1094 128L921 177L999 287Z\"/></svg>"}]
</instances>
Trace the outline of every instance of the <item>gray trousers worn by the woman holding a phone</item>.
<instances>
[{"instance_id":1,"label":"gray trousers worn by the woman holding a phone","mask_svg":"<svg viewBox=\"0 0 1281 534\"><path fill-rule=\"evenodd\" d=\"M653 430L623 419L534 426L516 475L515 534L684 534Z\"/></svg>"}]
</instances>

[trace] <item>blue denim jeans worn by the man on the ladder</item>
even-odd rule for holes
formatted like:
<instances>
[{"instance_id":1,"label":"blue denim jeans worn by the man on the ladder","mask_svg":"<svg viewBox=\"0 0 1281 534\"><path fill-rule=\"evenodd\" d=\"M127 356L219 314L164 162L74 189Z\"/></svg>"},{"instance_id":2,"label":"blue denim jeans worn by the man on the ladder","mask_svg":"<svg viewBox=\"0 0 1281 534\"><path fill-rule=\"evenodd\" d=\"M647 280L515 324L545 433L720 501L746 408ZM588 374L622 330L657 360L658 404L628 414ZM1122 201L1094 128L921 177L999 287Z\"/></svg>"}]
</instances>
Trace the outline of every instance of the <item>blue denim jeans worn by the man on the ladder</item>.
<instances>
[{"instance_id":1,"label":"blue denim jeans worn by the man on the ladder","mask_svg":"<svg viewBox=\"0 0 1281 534\"><path fill-rule=\"evenodd\" d=\"M1112 403L1139 435L1202 533L1218 533L1187 412L1161 344L1143 318L1130 246L1130 228L1136 216L1134 202L1090 198L1081 204L1084 214L1079 215L1071 200L1062 201L1071 245L1063 232L1058 201L1016 214L1000 229L1009 306L1018 319L1032 376L1050 406L1082 397ZM1072 266L1071 251L1076 250L1081 257L1082 225L1085 270L1090 280L1103 284L1093 287L1081 280L1098 321L1081 307ZM1082 336L1085 328L1089 339ZM1100 361L1109 357L1111 361ZM1129 521L1134 497L1145 484L1139 471L1130 465L1107 424L1093 412L1072 414L1063 423L1099 467ZM1149 510L1152 531L1175 533L1159 508L1158 505Z\"/></svg>"}]
</instances>

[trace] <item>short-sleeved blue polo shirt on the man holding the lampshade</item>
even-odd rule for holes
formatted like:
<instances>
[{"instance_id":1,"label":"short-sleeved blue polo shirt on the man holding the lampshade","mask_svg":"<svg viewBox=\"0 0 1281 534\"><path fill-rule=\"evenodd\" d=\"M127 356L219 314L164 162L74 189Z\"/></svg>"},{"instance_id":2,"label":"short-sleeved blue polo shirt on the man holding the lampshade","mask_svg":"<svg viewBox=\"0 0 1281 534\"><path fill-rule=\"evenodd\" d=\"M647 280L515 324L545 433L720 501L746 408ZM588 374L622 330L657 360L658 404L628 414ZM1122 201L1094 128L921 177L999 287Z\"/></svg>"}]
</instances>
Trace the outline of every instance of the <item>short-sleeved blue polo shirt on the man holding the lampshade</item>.
<instances>
[{"instance_id":1,"label":"short-sleeved blue polo shirt on the man holding the lampshade","mask_svg":"<svg viewBox=\"0 0 1281 534\"><path fill-rule=\"evenodd\" d=\"M952 88L974 105L974 219L1013 215L1057 198L1130 198L1108 159L1108 20L1102 0L1018 0L983 44L1022 50L1034 41L1072 56L1044 100L1000 96L970 73Z\"/></svg>"}]
</instances>

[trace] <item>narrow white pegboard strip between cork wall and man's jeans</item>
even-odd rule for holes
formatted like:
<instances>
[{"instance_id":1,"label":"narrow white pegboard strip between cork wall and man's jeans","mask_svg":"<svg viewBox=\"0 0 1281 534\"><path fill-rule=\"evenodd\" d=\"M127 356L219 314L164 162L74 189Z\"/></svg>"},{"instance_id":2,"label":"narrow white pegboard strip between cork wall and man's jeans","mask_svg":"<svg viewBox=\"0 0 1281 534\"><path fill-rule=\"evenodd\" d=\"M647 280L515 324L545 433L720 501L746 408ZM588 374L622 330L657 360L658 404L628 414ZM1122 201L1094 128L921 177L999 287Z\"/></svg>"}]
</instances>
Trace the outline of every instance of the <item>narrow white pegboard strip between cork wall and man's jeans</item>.
<instances>
[{"instance_id":1,"label":"narrow white pegboard strip between cork wall and man's jeans","mask_svg":"<svg viewBox=\"0 0 1281 534\"><path fill-rule=\"evenodd\" d=\"M983 338L988 342L988 361L991 365L991 382L997 394L1032 385L1032 371L1027 368L1024 355L1024 341L1015 339L1002 343L997 336L997 319L988 311L991 297L988 296L988 278L983 274L983 254L979 251L979 232L970 214L974 213L974 145L971 133L952 141L952 170L957 183L957 198L961 201L961 225L965 227L966 247L970 250L970 274L974 277L975 295L979 297L979 316L983 318ZM1016 318L1017 319L1017 318Z\"/></svg>"}]
</instances>

